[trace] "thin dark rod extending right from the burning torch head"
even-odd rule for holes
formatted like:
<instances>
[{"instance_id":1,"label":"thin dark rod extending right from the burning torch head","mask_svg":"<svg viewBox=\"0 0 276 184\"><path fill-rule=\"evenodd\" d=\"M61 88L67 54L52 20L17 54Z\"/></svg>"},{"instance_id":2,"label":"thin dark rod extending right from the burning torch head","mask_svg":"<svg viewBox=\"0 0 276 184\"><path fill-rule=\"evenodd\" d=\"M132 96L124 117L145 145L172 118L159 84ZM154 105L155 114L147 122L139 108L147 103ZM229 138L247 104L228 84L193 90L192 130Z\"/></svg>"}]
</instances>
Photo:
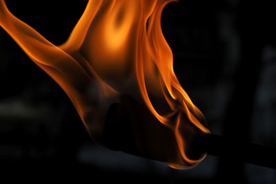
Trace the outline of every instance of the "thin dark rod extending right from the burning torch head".
<instances>
[{"instance_id":1,"label":"thin dark rod extending right from the burning torch head","mask_svg":"<svg viewBox=\"0 0 276 184\"><path fill-rule=\"evenodd\" d=\"M215 134L202 136L195 144L201 152L220 159L276 169L276 147L245 143Z\"/></svg>"}]
</instances>

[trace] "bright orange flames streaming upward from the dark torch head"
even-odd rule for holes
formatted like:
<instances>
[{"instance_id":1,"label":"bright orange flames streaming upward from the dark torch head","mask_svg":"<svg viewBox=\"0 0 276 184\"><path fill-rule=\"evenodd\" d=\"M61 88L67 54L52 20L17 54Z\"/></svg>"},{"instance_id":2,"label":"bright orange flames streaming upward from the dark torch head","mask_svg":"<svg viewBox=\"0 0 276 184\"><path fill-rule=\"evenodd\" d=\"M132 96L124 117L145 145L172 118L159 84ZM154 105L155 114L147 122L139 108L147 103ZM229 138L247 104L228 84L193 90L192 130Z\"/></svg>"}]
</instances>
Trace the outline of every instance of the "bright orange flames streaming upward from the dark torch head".
<instances>
[{"instance_id":1,"label":"bright orange flames streaming upward from the dark torch head","mask_svg":"<svg viewBox=\"0 0 276 184\"><path fill-rule=\"evenodd\" d=\"M181 169L205 158L190 159L187 152L197 136L210 132L172 68L172 51L161 31L162 10L171 1L90 0L59 46L14 17L3 0L0 25L63 88L93 138L104 134L110 104L131 96L159 124L140 122L142 131L133 131L135 154ZM164 142L157 143L159 138Z\"/></svg>"}]
</instances>

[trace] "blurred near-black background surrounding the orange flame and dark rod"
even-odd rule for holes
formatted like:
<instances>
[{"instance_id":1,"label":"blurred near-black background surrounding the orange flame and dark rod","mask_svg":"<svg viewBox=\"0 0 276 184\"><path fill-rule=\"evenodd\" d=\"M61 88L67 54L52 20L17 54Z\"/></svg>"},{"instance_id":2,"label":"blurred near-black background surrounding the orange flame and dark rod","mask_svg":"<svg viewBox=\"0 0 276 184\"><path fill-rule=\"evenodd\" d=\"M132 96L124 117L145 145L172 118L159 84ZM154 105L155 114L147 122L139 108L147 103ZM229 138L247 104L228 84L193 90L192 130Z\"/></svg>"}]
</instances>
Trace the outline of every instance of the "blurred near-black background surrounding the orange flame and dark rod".
<instances>
[{"instance_id":1,"label":"blurred near-black background surrounding the orange flame and dark rod","mask_svg":"<svg viewBox=\"0 0 276 184\"><path fill-rule=\"evenodd\" d=\"M66 41L87 1L6 1L52 43ZM270 1L170 3L162 29L184 90L210 131L233 141L276 146L276 28ZM18 172L66 171L120 183L276 183L276 171L215 156L172 170L95 146L75 108L50 76L0 29L0 165ZM235 149L233 147L232 149ZM239 152L240 150L237 150ZM271 158L275 159L275 158Z\"/></svg>"}]
</instances>

